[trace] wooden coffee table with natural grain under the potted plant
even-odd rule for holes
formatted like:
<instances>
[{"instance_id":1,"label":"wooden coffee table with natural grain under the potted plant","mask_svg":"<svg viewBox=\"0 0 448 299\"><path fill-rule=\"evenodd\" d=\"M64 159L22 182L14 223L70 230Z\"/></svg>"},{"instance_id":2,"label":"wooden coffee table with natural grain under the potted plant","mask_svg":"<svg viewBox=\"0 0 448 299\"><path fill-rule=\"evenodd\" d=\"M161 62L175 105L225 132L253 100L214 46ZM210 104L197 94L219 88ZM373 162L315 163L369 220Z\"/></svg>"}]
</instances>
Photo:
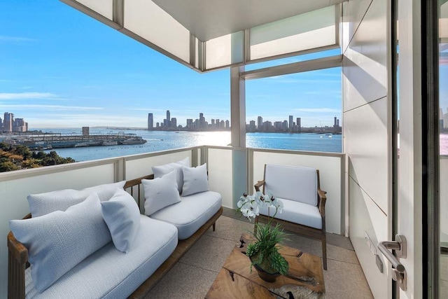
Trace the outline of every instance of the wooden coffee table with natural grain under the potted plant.
<instances>
[{"instance_id":1,"label":"wooden coffee table with natural grain under the potted plant","mask_svg":"<svg viewBox=\"0 0 448 299\"><path fill-rule=\"evenodd\" d=\"M235 246L225 260L205 298L325 298L321 258L298 249L281 246L279 252L288 260L289 272L266 282L258 277L246 256L249 235L241 236L242 246Z\"/></svg>"}]
</instances>

